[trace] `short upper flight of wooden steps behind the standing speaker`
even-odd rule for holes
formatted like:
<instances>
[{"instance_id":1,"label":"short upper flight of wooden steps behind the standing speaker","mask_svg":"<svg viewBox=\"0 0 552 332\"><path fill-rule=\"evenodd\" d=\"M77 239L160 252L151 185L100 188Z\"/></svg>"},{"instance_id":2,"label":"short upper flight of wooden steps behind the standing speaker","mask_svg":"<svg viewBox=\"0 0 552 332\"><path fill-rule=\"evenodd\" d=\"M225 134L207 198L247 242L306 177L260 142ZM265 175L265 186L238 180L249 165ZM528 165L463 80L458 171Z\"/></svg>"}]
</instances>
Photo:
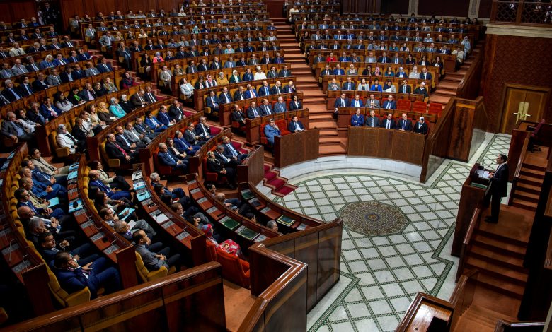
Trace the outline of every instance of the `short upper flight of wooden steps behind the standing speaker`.
<instances>
[{"instance_id":1,"label":"short upper flight of wooden steps behind the standing speaker","mask_svg":"<svg viewBox=\"0 0 552 332\"><path fill-rule=\"evenodd\" d=\"M536 211L541 194L541 184L544 180L544 172L546 172L545 167L531 165L526 162L523 163L514 196L512 197L512 206Z\"/></svg>"}]
</instances>

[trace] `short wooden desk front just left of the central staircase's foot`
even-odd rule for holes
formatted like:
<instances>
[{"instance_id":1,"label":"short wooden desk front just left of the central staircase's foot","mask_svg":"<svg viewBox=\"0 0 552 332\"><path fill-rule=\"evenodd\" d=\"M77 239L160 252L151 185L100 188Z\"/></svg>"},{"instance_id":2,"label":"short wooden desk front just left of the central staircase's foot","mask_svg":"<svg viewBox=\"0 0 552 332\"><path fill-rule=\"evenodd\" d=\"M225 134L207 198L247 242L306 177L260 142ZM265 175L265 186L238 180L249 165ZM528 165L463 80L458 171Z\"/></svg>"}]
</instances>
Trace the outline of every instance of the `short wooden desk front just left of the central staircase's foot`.
<instances>
[{"instance_id":1,"label":"short wooden desk front just left of the central staircase's foot","mask_svg":"<svg viewBox=\"0 0 552 332\"><path fill-rule=\"evenodd\" d=\"M286 167L318 158L318 136L320 129L309 129L299 133L274 136L274 165Z\"/></svg>"}]
</instances>

